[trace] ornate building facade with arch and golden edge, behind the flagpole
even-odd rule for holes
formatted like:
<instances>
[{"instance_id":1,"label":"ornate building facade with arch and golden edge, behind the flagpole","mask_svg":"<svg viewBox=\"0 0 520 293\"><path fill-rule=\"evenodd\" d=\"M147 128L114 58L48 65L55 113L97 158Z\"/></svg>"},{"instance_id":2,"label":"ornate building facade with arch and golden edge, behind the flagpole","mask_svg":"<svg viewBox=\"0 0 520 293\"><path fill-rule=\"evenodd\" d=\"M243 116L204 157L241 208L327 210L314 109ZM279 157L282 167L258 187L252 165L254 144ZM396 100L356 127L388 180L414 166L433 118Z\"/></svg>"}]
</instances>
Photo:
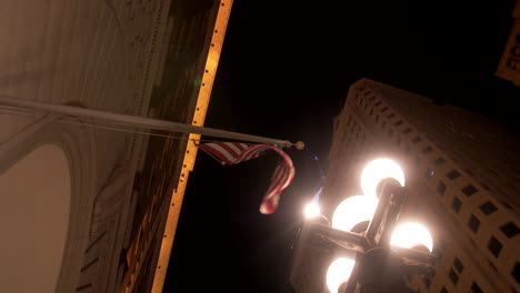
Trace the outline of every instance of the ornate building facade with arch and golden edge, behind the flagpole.
<instances>
[{"instance_id":1,"label":"ornate building facade with arch and golden edge, behind the flagpole","mask_svg":"<svg viewBox=\"0 0 520 293\"><path fill-rule=\"evenodd\" d=\"M231 0L0 3L0 95L203 125ZM0 103L0 287L161 292L196 134Z\"/></svg>"}]
</instances>

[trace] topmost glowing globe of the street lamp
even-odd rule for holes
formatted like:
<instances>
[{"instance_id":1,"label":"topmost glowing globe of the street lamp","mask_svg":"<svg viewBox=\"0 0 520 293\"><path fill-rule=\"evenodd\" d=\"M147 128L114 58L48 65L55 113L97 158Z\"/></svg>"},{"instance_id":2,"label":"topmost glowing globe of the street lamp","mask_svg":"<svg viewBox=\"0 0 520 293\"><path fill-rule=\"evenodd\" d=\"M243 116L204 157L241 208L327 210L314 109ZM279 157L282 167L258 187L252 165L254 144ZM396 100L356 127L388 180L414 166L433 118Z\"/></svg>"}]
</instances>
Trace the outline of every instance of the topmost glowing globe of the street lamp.
<instances>
[{"instance_id":1,"label":"topmost glowing globe of the street lamp","mask_svg":"<svg viewBox=\"0 0 520 293\"><path fill-rule=\"evenodd\" d=\"M361 190L364 195L377 196L377 188L381 180L393 178L404 186L404 172L401 166L389 159L373 160L361 172Z\"/></svg>"}]
</instances>

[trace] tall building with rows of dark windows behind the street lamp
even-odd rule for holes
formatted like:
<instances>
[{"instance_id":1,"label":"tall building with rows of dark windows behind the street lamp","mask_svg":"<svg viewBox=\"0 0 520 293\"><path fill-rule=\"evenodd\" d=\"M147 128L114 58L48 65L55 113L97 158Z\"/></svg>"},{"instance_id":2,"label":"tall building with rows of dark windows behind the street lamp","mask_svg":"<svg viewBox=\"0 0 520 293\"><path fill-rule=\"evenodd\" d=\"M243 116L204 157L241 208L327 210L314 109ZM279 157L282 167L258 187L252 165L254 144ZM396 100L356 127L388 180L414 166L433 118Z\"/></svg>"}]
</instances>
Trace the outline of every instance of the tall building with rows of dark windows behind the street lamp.
<instances>
[{"instance_id":1,"label":"tall building with rows of dark windows behind the street lamp","mask_svg":"<svg viewBox=\"0 0 520 293\"><path fill-rule=\"evenodd\" d=\"M330 168L320 199L331 219L361 193L362 168L389 158L404 170L410 196L402 220L424 223L440 256L418 292L520 292L520 143L493 121L376 81L349 90L334 120ZM302 230L304 234L304 229ZM327 292L330 251L300 235L291 282Z\"/></svg>"}]
</instances>

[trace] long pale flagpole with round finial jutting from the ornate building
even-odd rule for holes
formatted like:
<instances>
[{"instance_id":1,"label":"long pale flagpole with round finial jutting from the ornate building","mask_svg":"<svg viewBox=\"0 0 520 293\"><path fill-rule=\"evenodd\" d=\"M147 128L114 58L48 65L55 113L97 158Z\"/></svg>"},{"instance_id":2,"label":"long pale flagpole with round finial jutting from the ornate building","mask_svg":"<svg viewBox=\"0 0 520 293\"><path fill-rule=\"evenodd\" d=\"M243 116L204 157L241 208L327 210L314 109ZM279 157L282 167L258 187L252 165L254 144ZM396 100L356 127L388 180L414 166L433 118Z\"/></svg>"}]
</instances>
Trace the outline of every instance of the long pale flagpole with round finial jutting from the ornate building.
<instances>
[{"instance_id":1,"label":"long pale flagpole with round finial jutting from the ornate building","mask_svg":"<svg viewBox=\"0 0 520 293\"><path fill-rule=\"evenodd\" d=\"M24 109L46 111L46 112L58 113L58 114L63 114L63 115L72 115L72 117L78 117L78 118L93 118L93 119L103 120L106 122L124 123L127 125L137 127L137 128L147 128L147 129L184 132L184 133L197 133L197 134L202 134L202 135L208 135L208 137L213 137L213 138L268 143L268 144L282 146L282 148L291 148L292 145L294 145L298 150L302 150L304 148L304 143L302 141L292 143L287 140L277 140L277 139L257 137L257 135L232 132L232 131L220 130L220 129L203 128L203 127L197 127L197 125L190 125L190 124L183 124L183 123L178 123L178 122L172 122L172 121L164 121L164 120L143 118L143 117L124 115L124 114L111 113L111 112L72 107L72 105L42 103L42 102L36 102L36 101L29 101L29 100L22 100L22 99L14 99L14 98L4 97L4 95L0 95L0 105L24 108Z\"/></svg>"}]
</instances>

